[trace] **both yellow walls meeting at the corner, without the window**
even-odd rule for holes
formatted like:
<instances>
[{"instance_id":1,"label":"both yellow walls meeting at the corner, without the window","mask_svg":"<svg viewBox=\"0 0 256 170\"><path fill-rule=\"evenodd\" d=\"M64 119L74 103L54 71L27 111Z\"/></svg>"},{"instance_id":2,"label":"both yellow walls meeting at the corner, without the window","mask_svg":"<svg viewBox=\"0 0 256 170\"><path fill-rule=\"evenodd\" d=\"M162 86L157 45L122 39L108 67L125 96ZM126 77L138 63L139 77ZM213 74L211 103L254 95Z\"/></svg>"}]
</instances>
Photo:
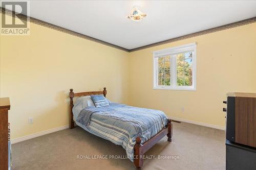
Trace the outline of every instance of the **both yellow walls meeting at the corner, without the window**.
<instances>
[{"instance_id":1,"label":"both yellow walls meeting at the corner, without the window","mask_svg":"<svg viewBox=\"0 0 256 170\"><path fill-rule=\"evenodd\" d=\"M256 92L256 23L133 53L33 23L30 31L0 36L0 96L10 97L12 139L68 125L70 88L106 87L111 101L217 126L225 124L227 92ZM191 42L197 91L153 90L152 51Z\"/></svg>"}]
</instances>

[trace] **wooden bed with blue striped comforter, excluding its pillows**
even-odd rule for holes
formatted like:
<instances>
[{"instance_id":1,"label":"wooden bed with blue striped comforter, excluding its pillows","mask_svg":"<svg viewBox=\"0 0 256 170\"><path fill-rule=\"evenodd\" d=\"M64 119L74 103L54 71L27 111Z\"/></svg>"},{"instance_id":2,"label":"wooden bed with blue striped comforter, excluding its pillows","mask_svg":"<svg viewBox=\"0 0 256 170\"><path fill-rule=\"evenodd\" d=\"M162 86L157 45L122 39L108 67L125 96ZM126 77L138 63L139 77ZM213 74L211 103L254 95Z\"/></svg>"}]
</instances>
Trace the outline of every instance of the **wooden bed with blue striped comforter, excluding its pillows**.
<instances>
[{"instance_id":1,"label":"wooden bed with blue striped comforter, excluding its pillows","mask_svg":"<svg viewBox=\"0 0 256 170\"><path fill-rule=\"evenodd\" d=\"M84 107L80 103L74 106L75 97L84 98L84 96L97 94L105 98L106 88L104 87L103 91L79 93L74 93L73 89L70 89L70 129L73 129L76 124L94 135L121 145L126 151L127 158L134 162L136 169L141 169L144 153L165 135L167 135L167 141L172 141L172 120L168 119L162 111L109 101L108 106L99 108Z\"/></svg>"}]
</instances>

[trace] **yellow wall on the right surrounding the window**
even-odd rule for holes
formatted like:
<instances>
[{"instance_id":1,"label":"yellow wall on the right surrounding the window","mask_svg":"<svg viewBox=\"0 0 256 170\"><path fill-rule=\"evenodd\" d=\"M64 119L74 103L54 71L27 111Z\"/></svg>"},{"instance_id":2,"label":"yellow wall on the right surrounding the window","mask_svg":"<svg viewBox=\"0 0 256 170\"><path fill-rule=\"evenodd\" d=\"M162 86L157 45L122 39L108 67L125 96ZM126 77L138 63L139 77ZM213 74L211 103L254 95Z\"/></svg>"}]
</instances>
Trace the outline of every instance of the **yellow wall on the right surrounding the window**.
<instances>
[{"instance_id":1,"label":"yellow wall on the right surrounding the window","mask_svg":"<svg viewBox=\"0 0 256 170\"><path fill-rule=\"evenodd\" d=\"M153 90L152 51L191 42L197 42L197 91ZM131 105L223 127L225 94L256 92L256 23L136 51L130 63Z\"/></svg>"}]
</instances>

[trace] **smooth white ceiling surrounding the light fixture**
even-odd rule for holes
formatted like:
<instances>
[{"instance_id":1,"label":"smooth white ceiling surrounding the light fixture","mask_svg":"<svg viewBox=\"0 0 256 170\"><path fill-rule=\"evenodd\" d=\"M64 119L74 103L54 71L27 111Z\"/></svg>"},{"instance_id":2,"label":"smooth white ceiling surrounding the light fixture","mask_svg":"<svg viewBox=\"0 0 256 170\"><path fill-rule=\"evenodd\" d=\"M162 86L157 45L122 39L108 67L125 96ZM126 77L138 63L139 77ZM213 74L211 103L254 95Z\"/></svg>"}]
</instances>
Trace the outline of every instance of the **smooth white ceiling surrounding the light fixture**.
<instances>
[{"instance_id":1,"label":"smooth white ceiling surrounding the light fixture","mask_svg":"<svg viewBox=\"0 0 256 170\"><path fill-rule=\"evenodd\" d=\"M31 1L30 16L130 50L255 17L256 1Z\"/></svg>"}]
</instances>

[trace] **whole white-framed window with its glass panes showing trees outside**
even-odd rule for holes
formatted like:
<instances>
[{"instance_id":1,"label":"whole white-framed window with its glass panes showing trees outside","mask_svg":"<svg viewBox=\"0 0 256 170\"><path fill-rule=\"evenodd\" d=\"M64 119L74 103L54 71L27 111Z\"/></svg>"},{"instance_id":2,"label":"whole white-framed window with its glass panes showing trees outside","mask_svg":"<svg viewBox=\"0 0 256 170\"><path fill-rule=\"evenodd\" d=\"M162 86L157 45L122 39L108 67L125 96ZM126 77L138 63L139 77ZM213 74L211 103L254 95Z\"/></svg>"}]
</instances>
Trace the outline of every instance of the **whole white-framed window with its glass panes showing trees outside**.
<instances>
[{"instance_id":1,"label":"whole white-framed window with its glass panes showing trees outside","mask_svg":"<svg viewBox=\"0 0 256 170\"><path fill-rule=\"evenodd\" d=\"M153 53L154 89L196 90L196 43Z\"/></svg>"}]
</instances>

